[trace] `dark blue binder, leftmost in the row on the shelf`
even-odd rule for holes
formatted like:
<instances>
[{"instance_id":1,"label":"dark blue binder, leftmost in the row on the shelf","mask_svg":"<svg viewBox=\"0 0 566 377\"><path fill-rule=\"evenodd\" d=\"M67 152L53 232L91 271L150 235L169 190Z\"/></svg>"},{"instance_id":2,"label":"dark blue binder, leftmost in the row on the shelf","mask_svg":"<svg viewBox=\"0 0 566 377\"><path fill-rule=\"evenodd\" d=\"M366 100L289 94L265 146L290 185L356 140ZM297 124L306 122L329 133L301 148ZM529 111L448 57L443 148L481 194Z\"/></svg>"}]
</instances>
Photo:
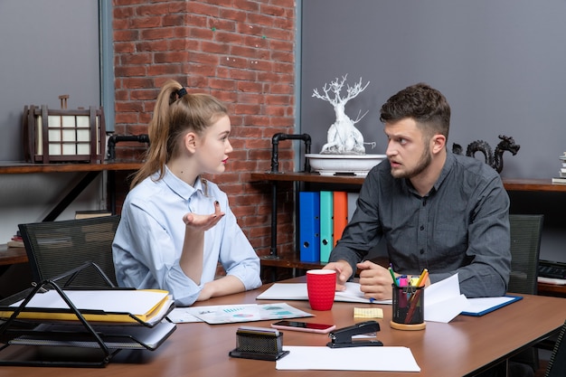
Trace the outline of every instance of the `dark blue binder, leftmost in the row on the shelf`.
<instances>
[{"instance_id":1,"label":"dark blue binder, leftmost in the row on the shelf","mask_svg":"<svg viewBox=\"0 0 566 377\"><path fill-rule=\"evenodd\" d=\"M304 262L320 260L320 194L298 193L299 257Z\"/></svg>"}]
</instances>

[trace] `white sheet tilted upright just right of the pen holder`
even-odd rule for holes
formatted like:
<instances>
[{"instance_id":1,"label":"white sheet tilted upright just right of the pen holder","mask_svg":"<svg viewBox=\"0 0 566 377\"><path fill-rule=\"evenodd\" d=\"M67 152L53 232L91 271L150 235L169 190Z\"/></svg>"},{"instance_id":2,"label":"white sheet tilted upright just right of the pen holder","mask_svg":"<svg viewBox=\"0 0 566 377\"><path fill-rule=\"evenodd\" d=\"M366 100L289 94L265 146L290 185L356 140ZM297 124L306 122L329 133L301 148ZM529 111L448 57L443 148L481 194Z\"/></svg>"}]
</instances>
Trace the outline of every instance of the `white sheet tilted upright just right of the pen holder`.
<instances>
[{"instance_id":1,"label":"white sheet tilted upright just right of the pen holder","mask_svg":"<svg viewBox=\"0 0 566 377\"><path fill-rule=\"evenodd\" d=\"M460 294L458 274L431 284L425 290L425 321L447 324L464 311L469 303Z\"/></svg>"}]
</instances>

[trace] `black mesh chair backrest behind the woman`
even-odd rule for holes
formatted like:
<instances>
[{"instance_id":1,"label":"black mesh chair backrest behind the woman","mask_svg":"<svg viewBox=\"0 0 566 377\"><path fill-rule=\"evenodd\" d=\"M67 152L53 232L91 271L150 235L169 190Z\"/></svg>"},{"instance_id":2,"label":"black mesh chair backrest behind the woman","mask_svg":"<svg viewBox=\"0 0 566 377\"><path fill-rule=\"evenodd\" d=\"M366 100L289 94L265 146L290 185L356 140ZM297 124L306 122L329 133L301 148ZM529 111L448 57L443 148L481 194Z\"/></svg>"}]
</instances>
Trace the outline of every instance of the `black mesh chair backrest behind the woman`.
<instances>
[{"instance_id":1,"label":"black mesh chair backrest behind the woman","mask_svg":"<svg viewBox=\"0 0 566 377\"><path fill-rule=\"evenodd\" d=\"M117 286L112 241L120 216L19 224L33 279L42 283L91 261ZM58 281L64 286L66 279ZM93 267L81 270L70 287L108 287Z\"/></svg>"}]
</instances>

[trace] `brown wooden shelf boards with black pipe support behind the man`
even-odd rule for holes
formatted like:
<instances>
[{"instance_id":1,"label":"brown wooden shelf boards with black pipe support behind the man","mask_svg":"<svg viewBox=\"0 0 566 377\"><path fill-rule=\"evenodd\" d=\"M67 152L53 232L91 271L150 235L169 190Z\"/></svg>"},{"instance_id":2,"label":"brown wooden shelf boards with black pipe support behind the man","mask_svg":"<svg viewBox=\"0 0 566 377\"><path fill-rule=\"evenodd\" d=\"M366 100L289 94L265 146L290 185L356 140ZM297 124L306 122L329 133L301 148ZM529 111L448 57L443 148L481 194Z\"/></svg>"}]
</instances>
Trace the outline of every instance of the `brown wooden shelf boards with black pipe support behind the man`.
<instances>
[{"instance_id":1,"label":"brown wooden shelf boards with black pipe support behind the man","mask_svg":"<svg viewBox=\"0 0 566 377\"><path fill-rule=\"evenodd\" d=\"M252 173L252 181L267 181L277 187L279 182L304 182L311 184L353 184L362 185L365 177L354 175L321 175L318 173L288 172L288 173ZM566 193L566 184L552 184L550 179L509 179L503 180L505 190L521 192L555 192ZM277 221L272 221L271 232L277 234ZM275 238L277 242L277 237ZM273 249L273 247L272 247ZM297 247L291 253L291 258L279 258L277 255L262 257L261 265L274 268L285 269L316 269L324 266L324 263L304 262L299 259ZM547 287L549 285L539 285L539 289L549 293L561 293L566 295L566 287Z\"/></svg>"}]
</instances>

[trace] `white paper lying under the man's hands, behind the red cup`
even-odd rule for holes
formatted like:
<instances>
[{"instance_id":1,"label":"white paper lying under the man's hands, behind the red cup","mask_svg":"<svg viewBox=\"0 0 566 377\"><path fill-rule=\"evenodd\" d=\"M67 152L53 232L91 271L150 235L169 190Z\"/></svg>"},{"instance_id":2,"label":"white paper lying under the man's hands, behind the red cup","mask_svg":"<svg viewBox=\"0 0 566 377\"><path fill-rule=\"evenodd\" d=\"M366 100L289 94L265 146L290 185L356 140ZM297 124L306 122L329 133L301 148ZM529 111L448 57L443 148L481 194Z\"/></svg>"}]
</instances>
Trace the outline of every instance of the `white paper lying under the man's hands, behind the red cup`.
<instances>
[{"instance_id":1,"label":"white paper lying under the man's hands, behind the red cup","mask_svg":"<svg viewBox=\"0 0 566 377\"><path fill-rule=\"evenodd\" d=\"M360 302L369 304L370 301L363 297L360 284L347 282L346 290L335 292L335 301ZM308 300L307 283L275 283L258 297L259 300ZM391 300L377 300L373 304L391 304Z\"/></svg>"}]
</instances>

